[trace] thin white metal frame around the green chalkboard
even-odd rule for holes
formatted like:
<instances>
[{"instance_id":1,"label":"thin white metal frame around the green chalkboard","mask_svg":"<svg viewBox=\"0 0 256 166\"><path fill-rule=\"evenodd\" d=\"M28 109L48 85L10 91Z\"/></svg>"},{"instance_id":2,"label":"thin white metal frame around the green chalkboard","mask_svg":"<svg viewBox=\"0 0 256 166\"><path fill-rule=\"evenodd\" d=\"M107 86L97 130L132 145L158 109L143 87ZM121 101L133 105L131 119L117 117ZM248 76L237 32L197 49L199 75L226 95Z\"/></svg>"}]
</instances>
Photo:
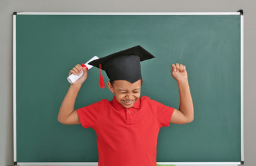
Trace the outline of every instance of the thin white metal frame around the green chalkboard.
<instances>
[{"instance_id":1,"label":"thin white metal frame around the green chalkboard","mask_svg":"<svg viewBox=\"0 0 256 166\"><path fill-rule=\"evenodd\" d=\"M244 13L237 12L14 12L13 13L13 145L15 165L98 165L98 163L17 163L16 133L16 15L241 15L241 163L185 162L165 165L242 165L244 164Z\"/></svg>"}]
</instances>

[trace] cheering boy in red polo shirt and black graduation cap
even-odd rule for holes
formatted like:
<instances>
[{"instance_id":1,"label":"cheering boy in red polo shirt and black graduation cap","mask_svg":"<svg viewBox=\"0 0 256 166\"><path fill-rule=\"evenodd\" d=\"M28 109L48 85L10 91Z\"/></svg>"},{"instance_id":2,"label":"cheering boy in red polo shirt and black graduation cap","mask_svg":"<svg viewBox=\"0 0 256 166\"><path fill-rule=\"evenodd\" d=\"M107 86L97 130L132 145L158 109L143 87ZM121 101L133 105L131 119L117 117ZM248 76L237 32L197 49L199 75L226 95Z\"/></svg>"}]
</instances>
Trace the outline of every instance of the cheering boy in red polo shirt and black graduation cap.
<instances>
[{"instance_id":1,"label":"cheering boy in red polo shirt and black graduation cap","mask_svg":"<svg viewBox=\"0 0 256 166\"><path fill-rule=\"evenodd\" d=\"M161 127L185 124L194 119L194 109L185 66L172 64L172 77L178 82L180 110L167 107L147 96L140 98L143 83L140 62L154 58L141 46L135 46L89 64L106 71L113 100L100 100L74 110L75 98L87 78L87 71L77 64L73 73L82 77L68 89L58 120L63 124L82 124L97 133L99 166L156 166L156 143ZM102 77L102 75L100 76ZM103 86L100 80L100 86Z\"/></svg>"}]
</instances>

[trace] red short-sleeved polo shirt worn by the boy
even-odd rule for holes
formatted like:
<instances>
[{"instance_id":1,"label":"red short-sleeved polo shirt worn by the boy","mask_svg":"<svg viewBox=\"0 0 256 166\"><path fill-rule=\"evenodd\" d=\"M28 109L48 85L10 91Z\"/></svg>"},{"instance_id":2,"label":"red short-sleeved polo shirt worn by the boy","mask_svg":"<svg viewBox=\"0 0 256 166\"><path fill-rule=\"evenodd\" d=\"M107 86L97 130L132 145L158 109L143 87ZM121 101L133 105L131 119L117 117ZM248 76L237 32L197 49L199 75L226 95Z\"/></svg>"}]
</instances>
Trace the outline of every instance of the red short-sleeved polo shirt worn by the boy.
<instances>
[{"instance_id":1,"label":"red short-sleeved polo shirt worn by the boy","mask_svg":"<svg viewBox=\"0 0 256 166\"><path fill-rule=\"evenodd\" d=\"M82 127L97 134L98 166L156 166L158 132L173 112L146 96L129 109L115 97L77 109Z\"/></svg>"}]
</instances>

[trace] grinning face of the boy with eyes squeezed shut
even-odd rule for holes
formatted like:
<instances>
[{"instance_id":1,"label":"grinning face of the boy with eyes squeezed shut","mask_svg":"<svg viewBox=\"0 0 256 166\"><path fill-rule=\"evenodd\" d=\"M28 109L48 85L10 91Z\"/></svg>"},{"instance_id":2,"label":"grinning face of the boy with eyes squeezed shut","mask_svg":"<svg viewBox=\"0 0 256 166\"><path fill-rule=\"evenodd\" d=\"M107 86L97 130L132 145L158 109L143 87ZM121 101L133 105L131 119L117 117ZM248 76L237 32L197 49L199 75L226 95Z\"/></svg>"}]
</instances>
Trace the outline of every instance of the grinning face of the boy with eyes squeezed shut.
<instances>
[{"instance_id":1,"label":"grinning face of the boy with eyes squeezed shut","mask_svg":"<svg viewBox=\"0 0 256 166\"><path fill-rule=\"evenodd\" d=\"M107 82L107 86L114 93L116 100L125 108L133 107L134 103L140 98L141 80L131 83L126 80L116 80L113 86Z\"/></svg>"}]
</instances>

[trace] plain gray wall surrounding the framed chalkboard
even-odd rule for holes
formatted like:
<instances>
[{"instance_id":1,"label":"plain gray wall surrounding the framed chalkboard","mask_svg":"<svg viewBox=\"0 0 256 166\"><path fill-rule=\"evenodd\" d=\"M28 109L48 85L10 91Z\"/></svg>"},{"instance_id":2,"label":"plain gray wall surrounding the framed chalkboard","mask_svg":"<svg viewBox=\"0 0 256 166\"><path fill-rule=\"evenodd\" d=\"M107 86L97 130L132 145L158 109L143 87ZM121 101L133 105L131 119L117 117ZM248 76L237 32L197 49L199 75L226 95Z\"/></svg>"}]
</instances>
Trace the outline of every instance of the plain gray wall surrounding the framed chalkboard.
<instances>
[{"instance_id":1,"label":"plain gray wall surrounding the framed chalkboard","mask_svg":"<svg viewBox=\"0 0 256 166\"><path fill-rule=\"evenodd\" d=\"M13 165L12 12L235 12L244 10L244 160L256 165L255 0L0 0L0 165Z\"/></svg>"}]
</instances>

